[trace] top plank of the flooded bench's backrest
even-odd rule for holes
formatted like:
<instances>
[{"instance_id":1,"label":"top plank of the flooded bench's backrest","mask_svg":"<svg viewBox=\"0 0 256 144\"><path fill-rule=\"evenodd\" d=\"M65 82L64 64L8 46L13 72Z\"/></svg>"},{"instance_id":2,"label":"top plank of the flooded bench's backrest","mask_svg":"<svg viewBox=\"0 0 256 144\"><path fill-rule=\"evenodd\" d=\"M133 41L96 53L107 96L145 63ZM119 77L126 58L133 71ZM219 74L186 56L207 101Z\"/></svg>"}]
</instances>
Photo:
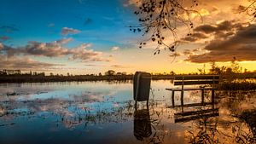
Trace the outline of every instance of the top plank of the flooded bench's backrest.
<instances>
[{"instance_id":1,"label":"top plank of the flooded bench's backrest","mask_svg":"<svg viewBox=\"0 0 256 144\"><path fill-rule=\"evenodd\" d=\"M219 75L186 75L175 76L174 80L219 79Z\"/></svg>"}]
</instances>

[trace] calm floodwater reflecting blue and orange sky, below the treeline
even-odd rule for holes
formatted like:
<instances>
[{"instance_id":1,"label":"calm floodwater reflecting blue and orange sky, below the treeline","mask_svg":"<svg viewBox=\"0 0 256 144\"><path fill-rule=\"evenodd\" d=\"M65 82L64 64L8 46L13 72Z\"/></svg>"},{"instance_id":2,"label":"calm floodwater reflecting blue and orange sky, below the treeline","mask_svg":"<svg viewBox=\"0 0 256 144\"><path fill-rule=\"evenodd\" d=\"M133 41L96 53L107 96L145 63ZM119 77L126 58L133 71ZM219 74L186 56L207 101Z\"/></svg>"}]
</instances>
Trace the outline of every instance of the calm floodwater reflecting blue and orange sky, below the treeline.
<instances>
[{"instance_id":1,"label":"calm floodwater reflecting blue and orange sky, below the treeline","mask_svg":"<svg viewBox=\"0 0 256 144\"><path fill-rule=\"evenodd\" d=\"M255 142L254 92L218 92L214 106L182 108L169 107L170 81L151 87L148 109L140 102L136 111L131 83L1 84L0 143ZM199 102L200 91L185 93L185 104Z\"/></svg>"}]
</instances>

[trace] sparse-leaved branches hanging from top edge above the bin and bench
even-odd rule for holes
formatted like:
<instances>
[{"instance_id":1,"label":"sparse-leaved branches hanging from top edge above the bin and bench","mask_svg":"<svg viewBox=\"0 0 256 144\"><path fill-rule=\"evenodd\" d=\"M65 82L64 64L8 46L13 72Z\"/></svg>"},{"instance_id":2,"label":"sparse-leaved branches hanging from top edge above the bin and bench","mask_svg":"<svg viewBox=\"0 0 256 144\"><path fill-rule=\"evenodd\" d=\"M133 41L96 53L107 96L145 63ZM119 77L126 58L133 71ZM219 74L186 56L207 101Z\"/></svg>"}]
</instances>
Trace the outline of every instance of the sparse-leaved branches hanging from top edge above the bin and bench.
<instances>
[{"instance_id":1,"label":"sparse-leaved branches hanging from top edge above the bin and bench","mask_svg":"<svg viewBox=\"0 0 256 144\"><path fill-rule=\"evenodd\" d=\"M140 43L139 48L147 44L148 40L157 43L154 55L160 53L160 49L169 49L174 52L177 46L177 27L187 26L188 35L191 36L191 29L194 24L191 14L201 14L194 8L198 5L197 0L138 0L137 14L139 26L130 26L132 32L143 32L143 36L149 38ZM202 18L201 18L202 20ZM172 34L172 43L166 43L166 35Z\"/></svg>"}]
</instances>

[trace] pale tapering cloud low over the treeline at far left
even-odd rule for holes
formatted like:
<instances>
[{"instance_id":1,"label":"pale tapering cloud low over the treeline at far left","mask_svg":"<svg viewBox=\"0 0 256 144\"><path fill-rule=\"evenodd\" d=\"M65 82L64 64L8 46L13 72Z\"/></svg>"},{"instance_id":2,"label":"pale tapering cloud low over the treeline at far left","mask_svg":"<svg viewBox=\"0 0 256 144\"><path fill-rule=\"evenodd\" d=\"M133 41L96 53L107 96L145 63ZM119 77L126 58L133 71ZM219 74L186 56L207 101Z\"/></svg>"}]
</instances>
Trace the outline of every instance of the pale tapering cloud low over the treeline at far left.
<instances>
[{"instance_id":1,"label":"pale tapering cloud low over the treeline at far left","mask_svg":"<svg viewBox=\"0 0 256 144\"><path fill-rule=\"evenodd\" d=\"M8 58L5 55L0 55L0 67L3 69L20 69L20 70L44 70L54 68L55 66L63 66L59 64L51 64L32 60L29 58Z\"/></svg>"}]
</instances>

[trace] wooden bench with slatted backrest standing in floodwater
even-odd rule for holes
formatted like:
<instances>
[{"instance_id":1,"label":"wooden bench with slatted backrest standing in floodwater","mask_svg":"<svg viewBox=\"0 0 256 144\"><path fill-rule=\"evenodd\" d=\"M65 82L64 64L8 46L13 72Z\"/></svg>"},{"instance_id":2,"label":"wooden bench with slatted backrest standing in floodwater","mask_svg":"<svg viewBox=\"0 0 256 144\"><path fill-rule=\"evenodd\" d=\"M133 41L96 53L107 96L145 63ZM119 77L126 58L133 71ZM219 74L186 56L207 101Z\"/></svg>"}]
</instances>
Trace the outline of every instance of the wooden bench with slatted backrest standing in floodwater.
<instances>
[{"instance_id":1,"label":"wooden bench with slatted backrest standing in floodwater","mask_svg":"<svg viewBox=\"0 0 256 144\"><path fill-rule=\"evenodd\" d=\"M189 90L201 90L201 104L205 103L204 94L205 90L212 90L212 102L214 103L214 89L215 84L218 84L219 76L218 75L183 75L183 76L176 76L174 77L174 85L181 85L181 88L173 88L173 89L166 89L172 91L172 106L174 107L174 93L175 91L181 92L181 106L183 107L183 93L184 91ZM198 87L198 88L184 88L185 85L207 85L210 84L208 87Z\"/></svg>"}]
</instances>

